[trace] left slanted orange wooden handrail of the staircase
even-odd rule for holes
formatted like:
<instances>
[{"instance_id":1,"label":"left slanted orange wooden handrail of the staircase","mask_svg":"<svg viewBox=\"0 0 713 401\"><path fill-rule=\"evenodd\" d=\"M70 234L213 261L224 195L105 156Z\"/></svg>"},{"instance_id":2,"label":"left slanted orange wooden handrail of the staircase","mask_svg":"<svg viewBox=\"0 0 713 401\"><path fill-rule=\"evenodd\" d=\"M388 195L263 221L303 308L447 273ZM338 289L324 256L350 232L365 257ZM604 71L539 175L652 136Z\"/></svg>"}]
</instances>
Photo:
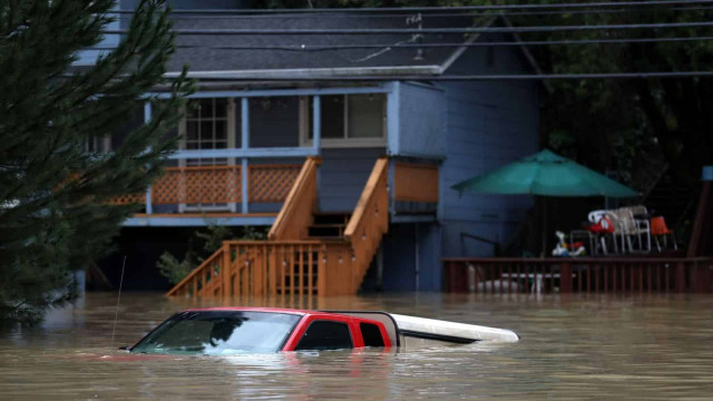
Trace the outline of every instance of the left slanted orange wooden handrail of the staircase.
<instances>
[{"instance_id":1,"label":"left slanted orange wooden handrail of the staircase","mask_svg":"<svg viewBox=\"0 0 713 401\"><path fill-rule=\"evenodd\" d=\"M304 162L300 175L297 175L292 188L290 188L287 198L275 218L275 223L273 223L270 233L267 233L268 239L299 239L285 238L285 229L289 226L294 227L294 217L296 215L312 215L316 206L316 168L320 163L321 158L315 156L307 157ZM300 229L306 234L307 224L303 226Z\"/></svg>"}]
</instances>

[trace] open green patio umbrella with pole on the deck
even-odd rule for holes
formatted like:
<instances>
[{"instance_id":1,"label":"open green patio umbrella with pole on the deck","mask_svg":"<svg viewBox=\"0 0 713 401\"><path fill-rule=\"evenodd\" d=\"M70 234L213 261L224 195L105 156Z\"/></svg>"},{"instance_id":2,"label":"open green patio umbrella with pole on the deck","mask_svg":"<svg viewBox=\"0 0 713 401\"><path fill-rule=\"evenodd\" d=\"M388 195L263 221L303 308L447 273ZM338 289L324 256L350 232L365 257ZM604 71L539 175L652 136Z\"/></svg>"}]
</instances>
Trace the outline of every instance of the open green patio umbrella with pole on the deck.
<instances>
[{"instance_id":1,"label":"open green patio umbrella with pole on the deck","mask_svg":"<svg viewBox=\"0 0 713 401\"><path fill-rule=\"evenodd\" d=\"M597 172L582 166L548 149L524 157L488 174L452 186L453 189L482 194L539 196L606 196L635 197L638 194ZM547 221L547 208L543 214ZM546 224L544 223L543 226ZM545 233L547 229L544 229ZM543 255L547 236L543 235Z\"/></svg>"}]
</instances>

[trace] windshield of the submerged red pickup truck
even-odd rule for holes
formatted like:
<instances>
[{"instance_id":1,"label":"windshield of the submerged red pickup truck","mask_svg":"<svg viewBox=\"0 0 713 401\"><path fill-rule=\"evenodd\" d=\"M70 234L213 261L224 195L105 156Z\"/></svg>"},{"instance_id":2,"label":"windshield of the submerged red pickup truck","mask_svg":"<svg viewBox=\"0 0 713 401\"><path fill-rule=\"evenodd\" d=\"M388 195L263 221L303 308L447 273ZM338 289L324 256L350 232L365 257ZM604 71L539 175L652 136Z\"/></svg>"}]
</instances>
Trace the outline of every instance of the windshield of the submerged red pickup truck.
<instances>
[{"instance_id":1,"label":"windshield of the submerged red pickup truck","mask_svg":"<svg viewBox=\"0 0 713 401\"><path fill-rule=\"evenodd\" d=\"M182 312L146 335L131 352L182 355L277 352L300 317L271 312Z\"/></svg>"}]
</instances>

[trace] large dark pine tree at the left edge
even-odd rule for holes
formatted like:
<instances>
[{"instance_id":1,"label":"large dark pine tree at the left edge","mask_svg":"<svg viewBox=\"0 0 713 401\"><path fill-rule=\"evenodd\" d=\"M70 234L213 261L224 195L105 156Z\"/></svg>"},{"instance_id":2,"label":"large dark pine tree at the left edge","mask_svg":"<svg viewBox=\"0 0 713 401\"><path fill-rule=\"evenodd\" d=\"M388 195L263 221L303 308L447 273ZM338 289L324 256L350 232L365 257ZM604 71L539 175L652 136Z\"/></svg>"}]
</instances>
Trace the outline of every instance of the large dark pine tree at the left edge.
<instances>
[{"instance_id":1,"label":"large dark pine tree at the left edge","mask_svg":"<svg viewBox=\"0 0 713 401\"><path fill-rule=\"evenodd\" d=\"M88 68L72 66L115 19L114 0L0 0L0 320L37 322L70 301L71 272L101 255L175 145L191 82L166 81L174 52L163 0L143 0L128 32ZM156 86L173 97L145 96ZM153 101L153 119L111 153L90 153Z\"/></svg>"}]
</instances>

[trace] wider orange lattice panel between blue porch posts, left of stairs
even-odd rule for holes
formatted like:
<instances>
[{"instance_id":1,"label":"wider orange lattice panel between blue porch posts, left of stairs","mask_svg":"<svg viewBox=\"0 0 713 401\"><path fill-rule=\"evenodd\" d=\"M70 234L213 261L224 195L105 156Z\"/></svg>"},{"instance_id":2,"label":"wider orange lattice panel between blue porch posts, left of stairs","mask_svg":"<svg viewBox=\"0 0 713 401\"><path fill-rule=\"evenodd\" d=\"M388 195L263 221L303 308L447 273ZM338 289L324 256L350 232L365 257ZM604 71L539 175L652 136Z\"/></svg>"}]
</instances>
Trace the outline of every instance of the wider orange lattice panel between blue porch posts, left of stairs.
<instances>
[{"instance_id":1,"label":"wider orange lattice panel between blue porch posts, left of stairs","mask_svg":"<svg viewBox=\"0 0 713 401\"><path fill-rule=\"evenodd\" d=\"M225 204L241 202L240 166L169 167L152 187L152 202Z\"/></svg>"}]
</instances>

